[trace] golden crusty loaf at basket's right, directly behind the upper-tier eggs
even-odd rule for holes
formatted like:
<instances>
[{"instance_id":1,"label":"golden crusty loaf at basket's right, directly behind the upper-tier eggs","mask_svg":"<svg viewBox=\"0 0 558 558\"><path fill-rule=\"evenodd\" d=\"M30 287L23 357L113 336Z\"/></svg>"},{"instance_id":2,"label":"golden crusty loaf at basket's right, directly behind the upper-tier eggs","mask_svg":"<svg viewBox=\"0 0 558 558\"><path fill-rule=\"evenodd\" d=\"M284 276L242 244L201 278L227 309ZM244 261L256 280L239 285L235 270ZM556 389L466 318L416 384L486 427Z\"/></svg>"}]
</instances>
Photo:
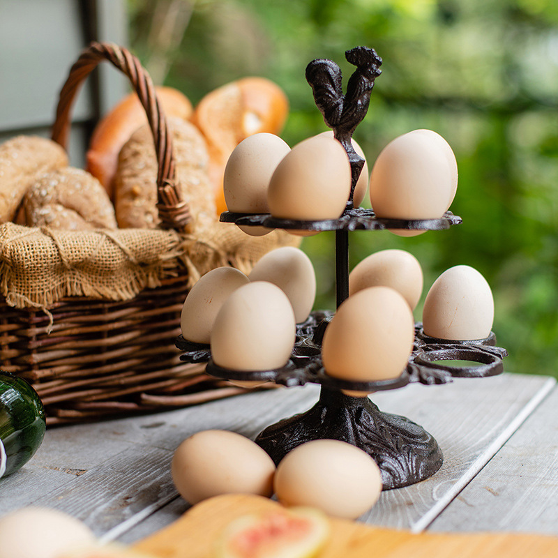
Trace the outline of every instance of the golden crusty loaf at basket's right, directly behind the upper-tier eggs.
<instances>
[{"instance_id":1,"label":"golden crusty loaf at basket's right, directly behind the upper-tier eggs","mask_svg":"<svg viewBox=\"0 0 558 558\"><path fill-rule=\"evenodd\" d=\"M252 134L279 134L288 113L287 96L264 77L243 77L211 91L199 101L192 121L209 147L209 178L218 214L227 211L223 173L233 149Z\"/></svg>"}]
</instances>

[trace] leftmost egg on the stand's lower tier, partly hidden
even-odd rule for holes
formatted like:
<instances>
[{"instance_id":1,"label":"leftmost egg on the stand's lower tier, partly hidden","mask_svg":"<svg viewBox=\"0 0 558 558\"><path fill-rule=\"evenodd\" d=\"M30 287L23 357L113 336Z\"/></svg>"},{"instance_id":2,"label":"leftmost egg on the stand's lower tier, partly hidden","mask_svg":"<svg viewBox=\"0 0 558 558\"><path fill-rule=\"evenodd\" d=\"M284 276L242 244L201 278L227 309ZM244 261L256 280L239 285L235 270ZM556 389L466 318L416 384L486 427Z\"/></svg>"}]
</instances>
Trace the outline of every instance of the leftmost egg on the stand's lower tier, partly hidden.
<instances>
[{"instance_id":1,"label":"leftmost egg on the stand's lower tier, partly hidden","mask_svg":"<svg viewBox=\"0 0 558 558\"><path fill-rule=\"evenodd\" d=\"M232 292L249 282L244 273L232 267L218 267L199 278L182 307L180 326L183 338L209 344L221 306Z\"/></svg>"}]
</instances>

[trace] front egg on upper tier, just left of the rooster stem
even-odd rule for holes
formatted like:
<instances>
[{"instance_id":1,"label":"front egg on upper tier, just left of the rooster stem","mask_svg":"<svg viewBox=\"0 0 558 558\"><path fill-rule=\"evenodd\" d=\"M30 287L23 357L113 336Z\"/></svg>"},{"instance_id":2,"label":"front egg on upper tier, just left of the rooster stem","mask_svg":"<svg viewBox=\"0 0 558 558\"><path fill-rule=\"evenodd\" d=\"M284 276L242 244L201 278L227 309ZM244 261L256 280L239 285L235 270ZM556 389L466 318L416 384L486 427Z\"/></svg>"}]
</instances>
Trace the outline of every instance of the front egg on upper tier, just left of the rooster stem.
<instances>
[{"instance_id":1,"label":"front egg on upper tier, just left of the rooster stem","mask_svg":"<svg viewBox=\"0 0 558 558\"><path fill-rule=\"evenodd\" d=\"M269 183L271 215L283 219L337 219L351 191L351 167L343 146L315 136L296 144Z\"/></svg>"}]
</instances>

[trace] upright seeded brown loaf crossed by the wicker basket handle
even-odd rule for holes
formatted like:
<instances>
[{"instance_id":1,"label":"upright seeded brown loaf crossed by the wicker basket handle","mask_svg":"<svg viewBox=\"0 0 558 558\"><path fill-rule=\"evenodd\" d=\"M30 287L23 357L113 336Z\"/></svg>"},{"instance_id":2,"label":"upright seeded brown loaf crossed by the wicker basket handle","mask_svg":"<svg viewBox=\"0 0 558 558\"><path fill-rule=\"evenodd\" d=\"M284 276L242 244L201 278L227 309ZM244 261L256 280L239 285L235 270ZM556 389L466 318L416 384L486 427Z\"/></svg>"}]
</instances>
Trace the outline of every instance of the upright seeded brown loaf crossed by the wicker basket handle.
<instances>
[{"instance_id":1,"label":"upright seeded brown loaf crossed by the wicker basket handle","mask_svg":"<svg viewBox=\"0 0 558 558\"><path fill-rule=\"evenodd\" d=\"M172 131L176 181L188 202L195 227L215 220L213 188L207 176L208 153L197 128L181 119L168 119ZM148 126L133 133L120 152L114 178L119 227L153 228L160 223L157 204L157 160Z\"/></svg>"}]
</instances>

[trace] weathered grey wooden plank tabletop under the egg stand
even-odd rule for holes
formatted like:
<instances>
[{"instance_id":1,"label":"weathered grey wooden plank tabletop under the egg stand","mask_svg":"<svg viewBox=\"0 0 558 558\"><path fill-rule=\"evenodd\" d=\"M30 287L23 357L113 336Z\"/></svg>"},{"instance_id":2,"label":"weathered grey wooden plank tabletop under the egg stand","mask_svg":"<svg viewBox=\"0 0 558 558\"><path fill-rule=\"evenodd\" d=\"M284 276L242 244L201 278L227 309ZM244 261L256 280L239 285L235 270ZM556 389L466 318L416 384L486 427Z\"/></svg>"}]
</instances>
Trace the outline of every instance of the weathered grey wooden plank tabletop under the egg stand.
<instances>
[{"instance_id":1,"label":"weathered grey wooden plank tabletop under the egg stand","mask_svg":"<svg viewBox=\"0 0 558 558\"><path fill-rule=\"evenodd\" d=\"M105 541L132 543L188 504L169 465L199 430L255 437L310 408L319 388L275 389L148 416L47 430L20 472L0 481L0 515L29 504L84 520ZM555 379L504 374L413 384L377 393L380 409L434 435L444 465L432 478L382 493L362 522L414 532L519 531L558 535L558 389Z\"/></svg>"}]
</instances>

